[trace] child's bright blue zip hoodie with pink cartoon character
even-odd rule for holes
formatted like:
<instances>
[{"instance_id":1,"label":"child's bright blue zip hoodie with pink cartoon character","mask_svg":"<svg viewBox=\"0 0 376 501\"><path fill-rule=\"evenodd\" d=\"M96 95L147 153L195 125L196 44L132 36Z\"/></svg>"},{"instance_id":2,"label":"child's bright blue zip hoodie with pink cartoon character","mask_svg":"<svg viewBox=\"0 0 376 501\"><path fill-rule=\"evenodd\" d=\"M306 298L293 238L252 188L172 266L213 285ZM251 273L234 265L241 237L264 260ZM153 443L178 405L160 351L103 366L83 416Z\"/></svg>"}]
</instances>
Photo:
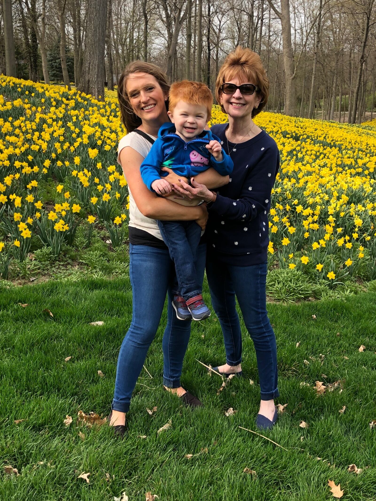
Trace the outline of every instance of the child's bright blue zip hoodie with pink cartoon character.
<instances>
[{"instance_id":1,"label":"child's bright blue zip hoodie with pink cartoon character","mask_svg":"<svg viewBox=\"0 0 376 501\"><path fill-rule=\"evenodd\" d=\"M205 147L213 139L221 142L210 130L204 130L199 136L186 143L175 133L173 123L163 124L159 129L158 138L141 163L143 182L149 190L154 191L151 183L168 174L160 171L161 167L168 167L176 174L188 178L204 172L209 167L214 167L222 176L231 174L234 163L230 156L222 149L223 160L217 162Z\"/></svg>"}]
</instances>

